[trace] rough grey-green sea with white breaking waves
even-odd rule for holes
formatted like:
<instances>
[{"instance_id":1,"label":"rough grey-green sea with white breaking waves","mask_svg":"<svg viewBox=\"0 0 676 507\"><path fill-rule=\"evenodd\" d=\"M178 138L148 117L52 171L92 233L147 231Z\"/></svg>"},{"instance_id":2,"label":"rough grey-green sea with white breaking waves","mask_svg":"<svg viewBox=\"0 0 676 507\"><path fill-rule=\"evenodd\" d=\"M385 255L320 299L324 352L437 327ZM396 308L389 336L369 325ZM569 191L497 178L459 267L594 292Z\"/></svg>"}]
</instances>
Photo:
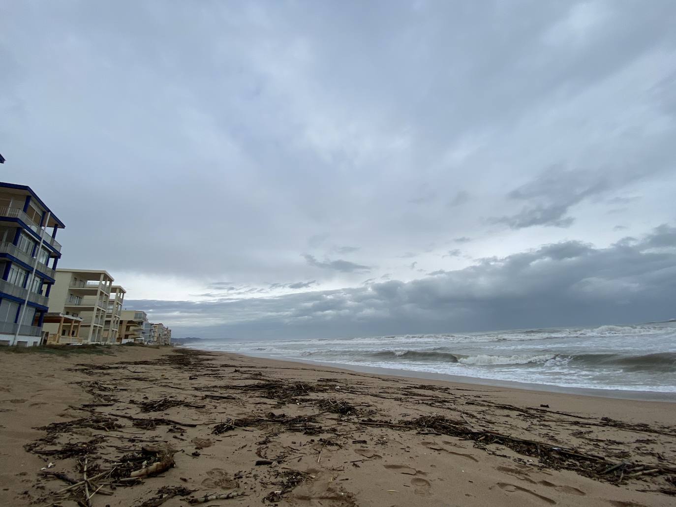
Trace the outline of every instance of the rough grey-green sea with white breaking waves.
<instances>
[{"instance_id":1,"label":"rough grey-green sea with white breaking waves","mask_svg":"<svg viewBox=\"0 0 676 507\"><path fill-rule=\"evenodd\" d=\"M676 393L676 320L599 327L289 339L205 340L200 349L369 371L501 383Z\"/></svg>"}]
</instances>

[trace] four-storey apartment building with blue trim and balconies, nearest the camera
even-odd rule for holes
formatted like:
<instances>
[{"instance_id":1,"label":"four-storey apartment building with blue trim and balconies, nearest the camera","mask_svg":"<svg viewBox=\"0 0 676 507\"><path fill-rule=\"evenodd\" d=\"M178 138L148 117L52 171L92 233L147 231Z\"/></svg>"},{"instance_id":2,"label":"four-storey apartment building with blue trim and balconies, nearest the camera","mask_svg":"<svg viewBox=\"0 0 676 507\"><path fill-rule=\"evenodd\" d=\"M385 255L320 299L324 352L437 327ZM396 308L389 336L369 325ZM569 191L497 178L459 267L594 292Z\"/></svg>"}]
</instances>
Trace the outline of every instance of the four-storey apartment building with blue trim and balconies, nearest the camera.
<instances>
[{"instance_id":1,"label":"four-storey apartment building with blue trim and balconies, nearest the camera","mask_svg":"<svg viewBox=\"0 0 676 507\"><path fill-rule=\"evenodd\" d=\"M1 345L43 343L64 227L30 187L0 183Z\"/></svg>"}]
</instances>

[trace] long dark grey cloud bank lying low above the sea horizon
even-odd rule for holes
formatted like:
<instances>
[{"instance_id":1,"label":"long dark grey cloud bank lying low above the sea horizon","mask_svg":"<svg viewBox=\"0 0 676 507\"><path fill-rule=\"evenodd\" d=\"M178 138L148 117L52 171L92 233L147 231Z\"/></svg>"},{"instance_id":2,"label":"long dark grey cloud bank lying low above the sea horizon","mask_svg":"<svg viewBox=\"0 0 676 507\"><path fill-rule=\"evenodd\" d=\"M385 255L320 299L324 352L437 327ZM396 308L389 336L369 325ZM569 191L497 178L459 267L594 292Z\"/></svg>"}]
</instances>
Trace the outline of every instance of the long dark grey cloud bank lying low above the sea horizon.
<instances>
[{"instance_id":1,"label":"long dark grey cloud bank lying low above the sea horizon","mask_svg":"<svg viewBox=\"0 0 676 507\"><path fill-rule=\"evenodd\" d=\"M562 241L425 279L366 287L240 299L227 303L134 301L156 316L220 320L204 337L329 337L433 333L658 320L673 316L676 227L607 248Z\"/></svg>"}]
</instances>

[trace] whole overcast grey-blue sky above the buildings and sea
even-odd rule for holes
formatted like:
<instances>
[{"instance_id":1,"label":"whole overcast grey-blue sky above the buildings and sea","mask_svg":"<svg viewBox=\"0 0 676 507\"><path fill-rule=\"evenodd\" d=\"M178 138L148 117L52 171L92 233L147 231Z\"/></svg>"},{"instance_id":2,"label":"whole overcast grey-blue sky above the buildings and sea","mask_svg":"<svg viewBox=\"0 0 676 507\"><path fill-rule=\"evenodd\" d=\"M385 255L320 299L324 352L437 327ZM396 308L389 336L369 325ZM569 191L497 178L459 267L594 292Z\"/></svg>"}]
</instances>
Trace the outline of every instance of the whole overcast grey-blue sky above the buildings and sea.
<instances>
[{"instance_id":1,"label":"whole overcast grey-blue sky above the buildings and sea","mask_svg":"<svg viewBox=\"0 0 676 507\"><path fill-rule=\"evenodd\" d=\"M0 0L1 179L176 337L672 318L675 19Z\"/></svg>"}]
</instances>

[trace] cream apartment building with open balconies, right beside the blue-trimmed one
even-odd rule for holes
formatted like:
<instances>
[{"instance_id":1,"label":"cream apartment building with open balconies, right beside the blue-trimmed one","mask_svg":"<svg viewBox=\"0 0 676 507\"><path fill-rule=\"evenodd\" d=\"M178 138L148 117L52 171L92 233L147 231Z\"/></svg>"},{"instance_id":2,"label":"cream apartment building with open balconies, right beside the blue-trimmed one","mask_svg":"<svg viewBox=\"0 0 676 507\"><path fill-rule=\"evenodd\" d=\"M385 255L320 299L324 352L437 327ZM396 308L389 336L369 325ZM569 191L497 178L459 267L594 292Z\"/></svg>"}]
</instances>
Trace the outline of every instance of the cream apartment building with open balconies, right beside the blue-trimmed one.
<instances>
[{"instance_id":1,"label":"cream apartment building with open balconies, right beside the blue-trimmed one","mask_svg":"<svg viewBox=\"0 0 676 507\"><path fill-rule=\"evenodd\" d=\"M45 323L49 343L105 343L113 281L105 270L57 269L49 297L49 313L53 318ZM81 319L78 333L68 334L66 327L51 322L60 314Z\"/></svg>"}]
</instances>

